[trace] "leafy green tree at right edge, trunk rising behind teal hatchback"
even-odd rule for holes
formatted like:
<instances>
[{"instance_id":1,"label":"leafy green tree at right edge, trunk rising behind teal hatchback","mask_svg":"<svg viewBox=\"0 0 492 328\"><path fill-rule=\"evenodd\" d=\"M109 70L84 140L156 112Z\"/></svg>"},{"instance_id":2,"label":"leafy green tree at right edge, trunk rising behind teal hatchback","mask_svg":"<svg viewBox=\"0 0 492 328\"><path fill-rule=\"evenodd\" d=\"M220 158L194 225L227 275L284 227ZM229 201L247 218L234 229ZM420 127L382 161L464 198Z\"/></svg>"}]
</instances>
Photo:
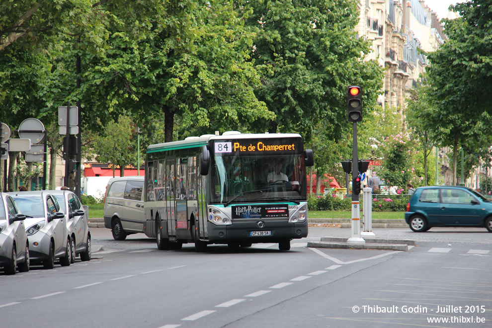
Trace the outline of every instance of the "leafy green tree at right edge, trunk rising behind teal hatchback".
<instances>
[{"instance_id":1,"label":"leafy green tree at right edge, trunk rising behind teal hatchback","mask_svg":"<svg viewBox=\"0 0 492 328\"><path fill-rule=\"evenodd\" d=\"M484 96L492 92L491 5L491 0L455 5L461 17L445 20L448 40L427 57L432 106L422 117L424 129L453 148L453 184L460 146L492 132L491 100Z\"/></svg>"}]
</instances>

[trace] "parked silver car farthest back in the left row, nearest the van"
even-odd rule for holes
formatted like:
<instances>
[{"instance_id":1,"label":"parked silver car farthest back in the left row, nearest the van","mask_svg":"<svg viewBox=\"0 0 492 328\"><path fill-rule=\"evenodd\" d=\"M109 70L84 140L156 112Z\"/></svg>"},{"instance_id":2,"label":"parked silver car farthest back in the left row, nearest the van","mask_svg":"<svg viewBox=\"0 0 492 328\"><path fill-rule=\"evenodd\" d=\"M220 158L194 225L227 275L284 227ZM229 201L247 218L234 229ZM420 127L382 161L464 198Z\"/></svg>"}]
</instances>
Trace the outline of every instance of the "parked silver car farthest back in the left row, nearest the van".
<instances>
[{"instance_id":1,"label":"parked silver car farthest back in the left row, nearest the van","mask_svg":"<svg viewBox=\"0 0 492 328\"><path fill-rule=\"evenodd\" d=\"M79 197L70 190L50 190L49 192L58 200L60 211L65 213L67 230L70 235L72 263L77 255L81 256L82 261L90 261L89 225Z\"/></svg>"}]
</instances>

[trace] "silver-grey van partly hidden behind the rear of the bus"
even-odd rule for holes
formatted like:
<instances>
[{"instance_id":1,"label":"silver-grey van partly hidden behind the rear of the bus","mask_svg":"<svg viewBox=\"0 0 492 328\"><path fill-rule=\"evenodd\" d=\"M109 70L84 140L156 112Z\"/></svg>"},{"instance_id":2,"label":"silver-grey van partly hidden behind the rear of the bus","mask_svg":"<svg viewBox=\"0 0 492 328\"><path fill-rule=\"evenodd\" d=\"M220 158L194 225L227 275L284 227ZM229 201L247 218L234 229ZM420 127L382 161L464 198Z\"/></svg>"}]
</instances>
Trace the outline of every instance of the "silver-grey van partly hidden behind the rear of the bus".
<instances>
[{"instance_id":1,"label":"silver-grey van partly hidden behind the rear of the bus","mask_svg":"<svg viewBox=\"0 0 492 328\"><path fill-rule=\"evenodd\" d=\"M144 232L144 177L122 176L109 180L104 197L104 227L113 238L125 240L127 235Z\"/></svg>"}]
</instances>

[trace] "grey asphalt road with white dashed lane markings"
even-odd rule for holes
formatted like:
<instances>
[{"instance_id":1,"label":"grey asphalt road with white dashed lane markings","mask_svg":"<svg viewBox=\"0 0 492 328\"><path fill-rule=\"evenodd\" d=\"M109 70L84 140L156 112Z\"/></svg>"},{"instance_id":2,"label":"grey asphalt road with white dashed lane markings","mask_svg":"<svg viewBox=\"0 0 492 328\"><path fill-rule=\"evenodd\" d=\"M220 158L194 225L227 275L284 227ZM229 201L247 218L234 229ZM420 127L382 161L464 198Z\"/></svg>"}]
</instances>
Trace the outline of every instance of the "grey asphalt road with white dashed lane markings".
<instances>
[{"instance_id":1,"label":"grey asphalt road with white dashed lane markings","mask_svg":"<svg viewBox=\"0 0 492 328\"><path fill-rule=\"evenodd\" d=\"M491 327L492 234L484 230L374 230L413 237L408 252L307 248L350 237L312 228L287 252L258 244L196 253L193 245L159 251L144 235L117 242L94 228L92 244L103 250L89 262L0 272L1 326Z\"/></svg>"}]
</instances>

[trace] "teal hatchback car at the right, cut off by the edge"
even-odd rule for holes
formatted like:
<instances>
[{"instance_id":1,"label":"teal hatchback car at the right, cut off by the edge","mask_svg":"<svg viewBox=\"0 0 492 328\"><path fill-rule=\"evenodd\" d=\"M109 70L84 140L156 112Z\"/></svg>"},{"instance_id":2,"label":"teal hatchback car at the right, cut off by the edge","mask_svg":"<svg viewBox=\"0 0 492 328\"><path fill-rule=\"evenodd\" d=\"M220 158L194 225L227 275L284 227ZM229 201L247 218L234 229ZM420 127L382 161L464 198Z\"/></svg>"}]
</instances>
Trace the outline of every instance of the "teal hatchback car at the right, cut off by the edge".
<instances>
[{"instance_id":1,"label":"teal hatchback car at the right, cut off by the edge","mask_svg":"<svg viewBox=\"0 0 492 328\"><path fill-rule=\"evenodd\" d=\"M414 232L432 227L485 227L492 232L492 201L468 187L419 187L407 205L405 221Z\"/></svg>"}]
</instances>

